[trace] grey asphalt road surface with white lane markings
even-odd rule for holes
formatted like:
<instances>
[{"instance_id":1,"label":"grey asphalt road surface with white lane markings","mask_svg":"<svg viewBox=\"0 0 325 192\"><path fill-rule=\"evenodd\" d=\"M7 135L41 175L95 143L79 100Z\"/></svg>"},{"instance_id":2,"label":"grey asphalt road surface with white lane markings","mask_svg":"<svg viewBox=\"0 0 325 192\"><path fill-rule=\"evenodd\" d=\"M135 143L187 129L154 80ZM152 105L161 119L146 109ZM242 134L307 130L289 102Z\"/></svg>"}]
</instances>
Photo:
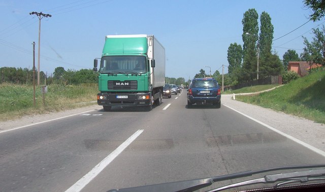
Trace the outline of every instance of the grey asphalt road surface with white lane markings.
<instances>
[{"instance_id":1,"label":"grey asphalt road surface with white lane markings","mask_svg":"<svg viewBox=\"0 0 325 192\"><path fill-rule=\"evenodd\" d=\"M187 109L185 91L150 112L98 109L0 133L1 191L107 191L320 163L228 107Z\"/></svg>"}]
</instances>

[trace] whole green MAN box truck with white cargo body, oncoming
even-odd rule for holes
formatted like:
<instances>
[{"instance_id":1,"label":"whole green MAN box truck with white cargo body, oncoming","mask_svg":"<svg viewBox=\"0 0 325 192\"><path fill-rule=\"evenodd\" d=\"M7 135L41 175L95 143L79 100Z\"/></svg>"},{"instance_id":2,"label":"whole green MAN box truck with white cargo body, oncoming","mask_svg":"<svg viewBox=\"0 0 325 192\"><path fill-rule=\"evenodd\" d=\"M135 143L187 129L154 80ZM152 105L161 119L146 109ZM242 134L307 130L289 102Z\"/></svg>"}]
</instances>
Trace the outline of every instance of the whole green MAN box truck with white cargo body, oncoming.
<instances>
[{"instance_id":1,"label":"whole green MAN box truck with white cargo body, oncoming","mask_svg":"<svg viewBox=\"0 0 325 192\"><path fill-rule=\"evenodd\" d=\"M112 106L160 105L165 85L165 48L152 35L106 36L98 69L98 105L105 111Z\"/></svg>"}]
</instances>

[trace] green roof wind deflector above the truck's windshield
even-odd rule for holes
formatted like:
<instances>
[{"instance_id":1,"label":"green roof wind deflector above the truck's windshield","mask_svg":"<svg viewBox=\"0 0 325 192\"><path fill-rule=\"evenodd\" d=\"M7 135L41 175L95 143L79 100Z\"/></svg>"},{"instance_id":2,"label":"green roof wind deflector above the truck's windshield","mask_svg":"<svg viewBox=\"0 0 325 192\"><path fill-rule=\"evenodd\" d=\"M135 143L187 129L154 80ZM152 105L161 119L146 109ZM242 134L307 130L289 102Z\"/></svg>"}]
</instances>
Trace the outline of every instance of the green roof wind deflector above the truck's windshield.
<instances>
[{"instance_id":1,"label":"green roof wind deflector above the truck's windshield","mask_svg":"<svg viewBox=\"0 0 325 192\"><path fill-rule=\"evenodd\" d=\"M107 38L103 55L108 54L146 54L147 38Z\"/></svg>"}]
</instances>

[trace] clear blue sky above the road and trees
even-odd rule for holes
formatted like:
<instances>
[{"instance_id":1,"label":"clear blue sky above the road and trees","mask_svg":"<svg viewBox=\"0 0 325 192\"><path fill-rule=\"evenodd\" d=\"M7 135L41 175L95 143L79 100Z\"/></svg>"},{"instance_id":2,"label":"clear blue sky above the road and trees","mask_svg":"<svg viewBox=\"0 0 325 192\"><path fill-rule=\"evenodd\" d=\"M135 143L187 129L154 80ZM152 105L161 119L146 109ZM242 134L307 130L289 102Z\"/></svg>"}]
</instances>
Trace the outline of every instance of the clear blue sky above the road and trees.
<instances>
[{"instance_id":1,"label":"clear blue sky above the road and trees","mask_svg":"<svg viewBox=\"0 0 325 192\"><path fill-rule=\"evenodd\" d=\"M0 0L0 67L32 69L32 45L38 51L39 19L30 12L51 14L41 20L41 71L92 69L101 57L106 35L155 35L166 49L166 76L193 78L228 66L231 43L243 44L243 14L254 8L269 13L274 39L308 21L303 0L172 1L172 0ZM258 19L259 21L259 19ZM302 35L324 22L308 22L273 42L280 59L288 49L304 48ZM318 27L320 27L319 25ZM281 47L281 48L280 48ZM36 55L37 66L37 55ZM228 69L225 68L225 73Z\"/></svg>"}]
</instances>

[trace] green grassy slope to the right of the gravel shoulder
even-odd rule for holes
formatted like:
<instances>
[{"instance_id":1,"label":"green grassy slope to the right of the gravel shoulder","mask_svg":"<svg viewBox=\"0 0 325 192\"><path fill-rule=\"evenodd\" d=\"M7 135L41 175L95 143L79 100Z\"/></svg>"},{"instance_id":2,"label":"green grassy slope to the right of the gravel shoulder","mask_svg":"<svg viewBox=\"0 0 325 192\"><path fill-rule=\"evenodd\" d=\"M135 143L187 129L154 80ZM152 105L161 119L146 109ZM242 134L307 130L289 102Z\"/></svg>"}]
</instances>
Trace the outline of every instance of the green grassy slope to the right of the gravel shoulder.
<instances>
[{"instance_id":1,"label":"green grassy slope to the right of the gravel shoulder","mask_svg":"<svg viewBox=\"0 0 325 192\"><path fill-rule=\"evenodd\" d=\"M258 95L238 95L236 100L325 123L325 71Z\"/></svg>"}]
</instances>

